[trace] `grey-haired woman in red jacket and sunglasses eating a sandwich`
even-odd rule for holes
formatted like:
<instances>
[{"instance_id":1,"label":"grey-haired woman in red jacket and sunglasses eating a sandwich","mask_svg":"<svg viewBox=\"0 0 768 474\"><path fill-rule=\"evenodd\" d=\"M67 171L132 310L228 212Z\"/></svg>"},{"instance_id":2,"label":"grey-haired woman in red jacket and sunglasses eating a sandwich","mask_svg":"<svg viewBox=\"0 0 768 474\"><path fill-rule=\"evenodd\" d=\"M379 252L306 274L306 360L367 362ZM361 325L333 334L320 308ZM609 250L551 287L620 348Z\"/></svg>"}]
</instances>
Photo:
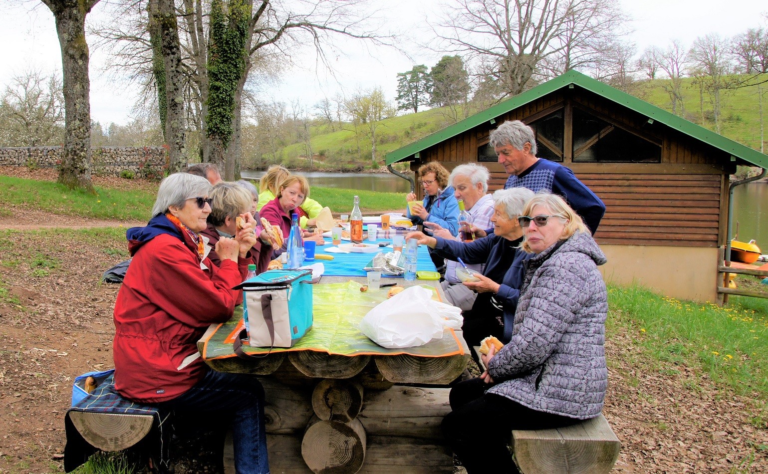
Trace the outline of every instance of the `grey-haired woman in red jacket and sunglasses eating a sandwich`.
<instances>
[{"instance_id":1,"label":"grey-haired woman in red jacket and sunglasses eating a sandwich","mask_svg":"<svg viewBox=\"0 0 768 474\"><path fill-rule=\"evenodd\" d=\"M152 219L127 231L131 266L114 305L114 385L127 399L231 419L237 472L269 472L264 391L256 377L210 370L197 340L233 315L256 243L253 221L220 237L216 266L200 237L210 214L210 183L189 173L166 177ZM222 440L223 441L223 440Z\"/></svg>"}]
</instances>

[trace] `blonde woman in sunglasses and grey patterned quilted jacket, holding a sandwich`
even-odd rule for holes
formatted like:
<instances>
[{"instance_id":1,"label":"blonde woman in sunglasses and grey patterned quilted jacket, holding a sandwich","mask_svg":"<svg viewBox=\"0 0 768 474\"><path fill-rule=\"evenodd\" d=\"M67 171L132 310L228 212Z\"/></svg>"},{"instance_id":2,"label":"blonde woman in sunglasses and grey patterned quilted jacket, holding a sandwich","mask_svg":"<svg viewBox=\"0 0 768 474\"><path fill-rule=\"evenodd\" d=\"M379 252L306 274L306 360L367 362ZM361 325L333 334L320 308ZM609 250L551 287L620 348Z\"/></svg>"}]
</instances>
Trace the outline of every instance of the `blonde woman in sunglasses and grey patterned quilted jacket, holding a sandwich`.
<instances>
[{"instance_id":1,"label":"blonde woman in sunglasses and grey patterned quilted jacket, holding a sandwich","mask_svg":"<svg viewBox=\"0 0 768 474\"><path fill-rule=\"evenodd\" d=\"M598 416L607 386L605 255L565 201L539 191L518 218L533 256L509 343L491 348L482 376L451 389L443 432L467 472L518 472L512 429L548 429ZM493 419L494 423L485 420ZM478 436L481 433L481 436Z\"/></svg>"}]
</instances>

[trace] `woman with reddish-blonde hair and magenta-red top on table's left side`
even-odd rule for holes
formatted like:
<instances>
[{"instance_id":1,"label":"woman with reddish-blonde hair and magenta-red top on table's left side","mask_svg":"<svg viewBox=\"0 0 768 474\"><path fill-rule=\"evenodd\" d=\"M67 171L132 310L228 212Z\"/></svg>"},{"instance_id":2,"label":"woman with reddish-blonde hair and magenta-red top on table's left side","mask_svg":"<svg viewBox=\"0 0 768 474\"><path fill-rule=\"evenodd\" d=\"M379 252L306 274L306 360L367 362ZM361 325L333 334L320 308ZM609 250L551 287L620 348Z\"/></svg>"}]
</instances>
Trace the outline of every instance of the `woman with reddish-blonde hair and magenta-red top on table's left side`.
<instances>
[{"instance_id":1,"label":"woman with reddish-blonde hair and magenta-red top on table's left side","mask_svg":"<svg viewBox=\"0 0 768 474\"><path fill-rule=\"evenodd\" d=\"M264 204L259 214L270 221L273 226L280 227L283 231L283 237L290 234L291 214L299 214L299 218L306 217L306 212L302 209L302 204L310 196L310 183L306 177L297 174L289 174L280 181L277 187L276 197ZM323 240L323 234L313 234L304 232L304 240L314 240L318 245L326 243ZM285 245L285 244L283 244Z\"/></svg>"}]
</instances>

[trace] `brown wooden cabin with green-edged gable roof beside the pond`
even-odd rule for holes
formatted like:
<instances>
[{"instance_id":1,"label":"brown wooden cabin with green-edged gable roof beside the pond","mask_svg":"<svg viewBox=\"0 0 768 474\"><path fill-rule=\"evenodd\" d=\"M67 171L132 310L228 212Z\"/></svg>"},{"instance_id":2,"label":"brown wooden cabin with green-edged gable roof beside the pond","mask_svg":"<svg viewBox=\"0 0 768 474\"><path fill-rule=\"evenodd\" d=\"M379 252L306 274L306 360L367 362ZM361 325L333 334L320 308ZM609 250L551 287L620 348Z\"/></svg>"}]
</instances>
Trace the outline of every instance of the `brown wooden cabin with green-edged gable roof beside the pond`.
<instances>
[{"instance_id":1,"label":"brown wooden cabin with green-edged gable roof beside the pond","mask_svg":"<svg viewBox=\"0 0 768 474\"><path fill-rule=\"evenodd\" d=\"M606 206L595 239L607 281L670 297L717 299L718 248L726 244L729 175L768 156L576 71L386 155L449 170L477 162L491 190L507 174L488 144L498 124L534 129L538 157L570 167ZM421 190L419 189L419 192Z\"/></svg>"}]
</instances>

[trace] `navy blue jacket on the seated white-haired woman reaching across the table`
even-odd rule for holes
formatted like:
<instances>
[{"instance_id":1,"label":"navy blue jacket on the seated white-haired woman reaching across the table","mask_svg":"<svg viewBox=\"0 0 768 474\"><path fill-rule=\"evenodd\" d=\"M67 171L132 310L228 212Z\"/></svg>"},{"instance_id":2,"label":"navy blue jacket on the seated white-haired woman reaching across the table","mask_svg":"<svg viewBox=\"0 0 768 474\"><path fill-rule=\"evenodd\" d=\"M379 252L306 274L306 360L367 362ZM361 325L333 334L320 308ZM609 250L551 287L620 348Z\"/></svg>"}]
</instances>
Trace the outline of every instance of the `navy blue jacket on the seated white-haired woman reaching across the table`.
<instances>
[{"instance_id":1,"label":"navy blue jacket on the seated white-haired woman reaching across the table","mask_svg":"<svg viewBox=\"0 0 768 474\"><path fill-rule=\"evenodd\" d=\"M512 337L515 323L515 310L518 307L520 287L523 281L523 262L533 257L518 249L521 239L507 240L495 234L488 234L474 242L459 242L435 237L435 254L450 260L461 258L465 264L485 264L482 275L494 280L502 286L498 288L494 299L504 308L503 343L508 343ZM487 263L486 263L487 262Z\"/></svg>"}]
</instances>

